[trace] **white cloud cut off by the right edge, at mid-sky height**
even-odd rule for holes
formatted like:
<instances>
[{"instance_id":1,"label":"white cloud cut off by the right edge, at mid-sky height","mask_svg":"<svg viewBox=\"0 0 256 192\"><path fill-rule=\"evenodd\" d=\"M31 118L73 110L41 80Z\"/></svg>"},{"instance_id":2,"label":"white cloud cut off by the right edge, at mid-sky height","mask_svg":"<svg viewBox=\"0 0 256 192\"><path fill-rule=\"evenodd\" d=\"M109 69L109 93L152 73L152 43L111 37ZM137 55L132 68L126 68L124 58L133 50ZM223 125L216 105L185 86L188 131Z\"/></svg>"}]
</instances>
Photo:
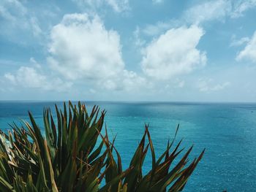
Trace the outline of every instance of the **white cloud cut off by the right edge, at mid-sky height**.
<instances>
[{"instance_id":1,"label":"white cloud cut off by the right edge, at mid-sky height","mask_svg":"<svg viewBox=\"0 0 256 192\"><path fill-rule=\"evenodd\" d=\"M241 61L243 59L256 63L256 31L252 35L252 38L249 39L249 42L247 42L244 50L241 50L241 52L236 56L237 61Z\"/></svg>"}]
</instances>

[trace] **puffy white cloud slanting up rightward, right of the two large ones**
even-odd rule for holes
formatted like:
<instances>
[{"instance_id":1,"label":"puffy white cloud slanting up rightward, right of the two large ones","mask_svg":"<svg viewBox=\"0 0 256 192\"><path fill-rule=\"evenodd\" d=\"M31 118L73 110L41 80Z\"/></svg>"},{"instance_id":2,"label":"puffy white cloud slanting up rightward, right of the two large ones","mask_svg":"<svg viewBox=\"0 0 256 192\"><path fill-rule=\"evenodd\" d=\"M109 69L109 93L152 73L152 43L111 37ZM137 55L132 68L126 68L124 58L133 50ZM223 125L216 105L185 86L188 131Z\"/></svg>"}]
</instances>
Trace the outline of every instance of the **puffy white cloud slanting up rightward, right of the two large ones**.
<instances>
[{"instance_id":1,"label":"puffy white cloud slanting up rightward, right of the two large ones","mask_svg":"<svg viewBox=\"0 0 256 192\"><path fill-rule=\"evenodd\" d=\"M158 80L167 80L204 66L206 53L196 48L203 34L198 26L168 30L143 49L143 72Z\"/></svg>"}]
</instances>

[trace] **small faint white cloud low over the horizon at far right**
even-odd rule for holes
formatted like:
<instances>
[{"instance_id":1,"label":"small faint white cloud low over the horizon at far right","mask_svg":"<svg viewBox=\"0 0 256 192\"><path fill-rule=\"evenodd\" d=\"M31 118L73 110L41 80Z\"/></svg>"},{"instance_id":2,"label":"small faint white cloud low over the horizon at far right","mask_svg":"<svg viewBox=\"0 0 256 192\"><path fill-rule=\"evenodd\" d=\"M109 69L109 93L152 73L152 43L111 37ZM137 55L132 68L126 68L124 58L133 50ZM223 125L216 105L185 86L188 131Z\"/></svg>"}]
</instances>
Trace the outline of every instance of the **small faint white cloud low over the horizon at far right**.
<instances>
[{"instance_id":1,"label":"small faint white cloud low over the horizon at far right","mask_svg":"<svg viewBox=\"0 0 256 192\"><path fill-rule=\"evenodd\" d=\"M197 83L197 87L201 92L221 91L227 88L229 85L230 85L230 82L222 82L219 84L214 84L214 80L212 79L208 79L208 80L200 79Z\"/></svg>"}]
</instances>

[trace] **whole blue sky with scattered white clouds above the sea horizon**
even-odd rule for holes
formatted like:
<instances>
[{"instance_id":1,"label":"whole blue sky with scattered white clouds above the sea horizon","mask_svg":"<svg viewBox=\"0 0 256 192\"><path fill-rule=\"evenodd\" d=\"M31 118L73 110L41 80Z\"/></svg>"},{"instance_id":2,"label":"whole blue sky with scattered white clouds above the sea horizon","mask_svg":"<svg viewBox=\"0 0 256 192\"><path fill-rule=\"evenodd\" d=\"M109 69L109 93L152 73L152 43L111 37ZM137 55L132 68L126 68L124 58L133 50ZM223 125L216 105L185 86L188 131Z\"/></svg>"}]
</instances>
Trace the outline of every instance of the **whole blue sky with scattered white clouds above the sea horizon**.
<instances>
[{"instance_id":1,"label":"whole blue sky with scattered white clouds above the sea horizon","mask_svg":"<svg viewBox=\"0 0 256 192\"><path fill-rule=\"evenodd\" d=\"M0 2L0 100L256 101L256 0Z\"/></svg>"}]
</instances>

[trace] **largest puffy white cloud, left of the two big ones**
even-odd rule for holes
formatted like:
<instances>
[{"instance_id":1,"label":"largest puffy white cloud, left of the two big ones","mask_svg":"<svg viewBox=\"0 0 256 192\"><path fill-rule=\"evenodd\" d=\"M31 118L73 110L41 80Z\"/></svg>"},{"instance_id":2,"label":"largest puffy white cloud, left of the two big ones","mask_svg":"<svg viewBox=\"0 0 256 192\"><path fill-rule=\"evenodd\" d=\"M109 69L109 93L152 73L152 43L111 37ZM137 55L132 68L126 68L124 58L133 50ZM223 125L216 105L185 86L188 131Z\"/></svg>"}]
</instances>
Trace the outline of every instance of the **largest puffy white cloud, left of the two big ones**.
<instances>
[{"instance_id":1,"label":"largest puffy white cloud, left of the two big ones","mask_svg":"<svg viewBox=\"0 0 256 192\"><path fill-rule=\"evenodd\" d=\"M110 90L129 89L144 82L125 69L120 37L95 15L64 15L50 32L48 64L68 80L86 80Z\"/></svg>"}]
</instances>

